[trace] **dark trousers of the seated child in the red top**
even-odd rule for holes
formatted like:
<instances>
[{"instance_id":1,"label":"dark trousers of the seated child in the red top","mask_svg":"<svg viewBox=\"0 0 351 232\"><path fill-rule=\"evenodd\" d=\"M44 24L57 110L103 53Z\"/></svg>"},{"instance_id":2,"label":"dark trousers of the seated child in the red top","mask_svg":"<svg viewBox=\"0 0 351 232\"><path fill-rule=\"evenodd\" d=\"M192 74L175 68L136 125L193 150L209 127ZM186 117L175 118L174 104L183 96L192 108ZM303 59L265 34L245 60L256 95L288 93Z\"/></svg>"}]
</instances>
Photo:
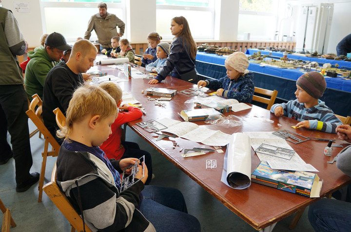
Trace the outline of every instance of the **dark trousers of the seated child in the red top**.
<instances>
[{"instance_id":1,"label":"dark trousers of the seated child in the red top","mask_svg":"<svg viewBox=\"0 0 351 232\"><path fill-rule=\"evenodd\" d=\"M148 169L148 178L146 179L145 184L149 184L152 178L152 161L151 154L147 151L140 150L140 147L137 143L133 142L121 142L125 148L125 152L121 159L125 158L137 158L140 159L142 156L145 156L145 165Z\"/></svg>"}]
</instances>

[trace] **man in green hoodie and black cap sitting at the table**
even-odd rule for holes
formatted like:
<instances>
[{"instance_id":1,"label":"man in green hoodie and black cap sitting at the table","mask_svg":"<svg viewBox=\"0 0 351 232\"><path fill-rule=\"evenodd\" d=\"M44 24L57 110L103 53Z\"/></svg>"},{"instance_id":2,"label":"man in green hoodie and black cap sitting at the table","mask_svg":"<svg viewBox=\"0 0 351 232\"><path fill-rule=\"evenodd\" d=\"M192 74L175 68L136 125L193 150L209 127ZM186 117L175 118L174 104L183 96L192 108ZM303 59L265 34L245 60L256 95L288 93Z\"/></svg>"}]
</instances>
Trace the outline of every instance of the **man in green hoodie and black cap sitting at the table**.
<instances>
[{"instance_id":1,"label":"man in green hoodie and black cap sitting at the table","mask_svg":"<svg viewBox=\"0 0 351 232\"><path fill-rule=\"evenodd\" d=\"M63 52L71 48L61 34L53 32L46 37L44 46L28 52L30 60L25 71L24 85L30 101L36 93L42 99L47 73L61 61Z\"/></svg>"}]
</instances>

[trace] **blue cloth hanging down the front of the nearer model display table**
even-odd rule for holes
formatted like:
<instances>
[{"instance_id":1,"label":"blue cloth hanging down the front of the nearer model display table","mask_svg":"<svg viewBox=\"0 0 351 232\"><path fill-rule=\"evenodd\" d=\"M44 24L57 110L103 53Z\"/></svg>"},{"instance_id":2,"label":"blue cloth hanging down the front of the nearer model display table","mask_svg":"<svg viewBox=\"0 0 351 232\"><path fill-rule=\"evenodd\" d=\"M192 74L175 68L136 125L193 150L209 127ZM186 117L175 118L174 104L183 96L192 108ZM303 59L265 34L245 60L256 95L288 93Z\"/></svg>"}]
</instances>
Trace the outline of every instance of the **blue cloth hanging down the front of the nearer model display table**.
<instances>
[{"instance_id":1,"label":"blue cloth hanging down the front of the nearer model display table","mask_svg":"<svg viewBox=\"0 0 351 232\"><path fill-rule=\"evenodd\" d=\"M196 70L205 76L219 79L226 75L224 61L227 56L197 52ZM295 99L296 80L303 74L294 69L280 69L250 63L248 70L254 72L256 87L278 90L278 97L284 100ZM326 77L327 89L320 98L334 113L351 115L351 80L341 77Z\"/></svg>"}]
</instances>

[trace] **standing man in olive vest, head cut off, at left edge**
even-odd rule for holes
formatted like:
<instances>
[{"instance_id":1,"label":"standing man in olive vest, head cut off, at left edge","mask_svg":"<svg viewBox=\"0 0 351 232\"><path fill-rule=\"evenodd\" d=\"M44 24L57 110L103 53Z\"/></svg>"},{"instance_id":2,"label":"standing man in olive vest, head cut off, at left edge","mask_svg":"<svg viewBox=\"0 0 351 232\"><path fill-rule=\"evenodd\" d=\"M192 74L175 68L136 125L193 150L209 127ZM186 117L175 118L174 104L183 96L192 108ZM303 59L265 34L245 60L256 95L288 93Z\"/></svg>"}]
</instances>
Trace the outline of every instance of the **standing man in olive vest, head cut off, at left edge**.
<instances>
[{"instance_id":1,"label":"standing man in olive vest, head cut off, at left edge","mask_svg":"<svg viewBox=\"0 0 351 232\"><path fill-rule=\"evenodd\" d=\"M17 192L26 191L39 180L39 173L29 173L33 160L25 113L28 100L16 60L16 55L26 51L27 42L16 18L11 11L0 7L0 165L14 158ZM6 140L7 131L11 135L12 150Z\"/></svg>"}]
</instances>

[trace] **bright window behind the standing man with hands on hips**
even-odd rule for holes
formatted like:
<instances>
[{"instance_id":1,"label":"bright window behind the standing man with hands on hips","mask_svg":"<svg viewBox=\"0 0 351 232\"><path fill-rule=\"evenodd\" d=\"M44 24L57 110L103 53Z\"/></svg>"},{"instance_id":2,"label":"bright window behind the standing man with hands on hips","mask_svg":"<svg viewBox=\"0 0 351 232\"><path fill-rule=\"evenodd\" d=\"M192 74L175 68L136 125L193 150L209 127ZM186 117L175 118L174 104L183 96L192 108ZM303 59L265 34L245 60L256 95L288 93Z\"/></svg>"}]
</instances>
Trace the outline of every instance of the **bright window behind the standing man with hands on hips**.
<instances>
[{"instance_id":1,"label":"bright window behind the standing man with hands on hips","mask_svg":"<svg viewBox=\"0 0 351 232\"><path fill-rule=\"evenodd\" d=\"M90 17L98 13L98 2L101 0L41 0L43 32L61 33L67 42L74 42L77 37L84 37ZM103 2L107 3L109 13L117 15L125 22L125 7L122 0L103 0ZM72 23L74 27L69 26ZM92 31L90 40L97 39L95 31Z\"/></svg>"}]
</instances>

